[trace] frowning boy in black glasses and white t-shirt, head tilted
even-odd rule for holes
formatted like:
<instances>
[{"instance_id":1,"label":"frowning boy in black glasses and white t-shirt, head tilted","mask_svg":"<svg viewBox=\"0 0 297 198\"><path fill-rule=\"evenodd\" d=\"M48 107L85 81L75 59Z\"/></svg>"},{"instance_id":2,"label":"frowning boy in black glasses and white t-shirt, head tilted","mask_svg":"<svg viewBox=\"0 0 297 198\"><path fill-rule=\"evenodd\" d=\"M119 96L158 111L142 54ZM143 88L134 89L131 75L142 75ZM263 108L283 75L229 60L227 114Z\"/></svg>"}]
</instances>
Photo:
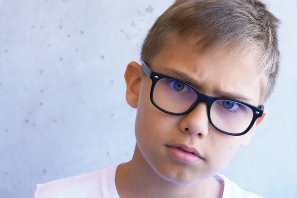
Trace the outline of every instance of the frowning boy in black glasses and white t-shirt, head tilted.
<instances>
[{"instance_id":1,"label":"frowning boy in black glasses and white t-shirt, head tilted","mask_svg":"<svg viewBox=\"0 0 297 198\"><path fill-rule=\"evenodd\" d=\"M35 198L260 198L218 172L266 115L278 24L258 0L177 0L125 72L132 160L38 185Z\"/></svg>"}]
</instances>

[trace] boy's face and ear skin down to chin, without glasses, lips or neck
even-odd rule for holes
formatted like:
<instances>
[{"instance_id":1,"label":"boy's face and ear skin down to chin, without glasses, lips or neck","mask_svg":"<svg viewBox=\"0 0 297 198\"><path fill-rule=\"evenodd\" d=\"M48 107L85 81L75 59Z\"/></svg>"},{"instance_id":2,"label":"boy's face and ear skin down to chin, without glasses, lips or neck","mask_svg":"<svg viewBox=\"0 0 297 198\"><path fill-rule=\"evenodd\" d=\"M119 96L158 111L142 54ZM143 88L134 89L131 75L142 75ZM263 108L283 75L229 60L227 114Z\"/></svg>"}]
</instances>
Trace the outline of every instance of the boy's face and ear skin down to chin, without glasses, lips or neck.
<instances>
[{"instance_id":1,"label":"boy's face and ear skin down to chin, without glasses, lips or neck","mask_svg":"<svg viewBox=\"0 0 297 198\"><path fill-rule=\"evenodd\" d=\"M194 44L194 42L193 42ZM221 92L238 93L250 98L245 101L258 106L261 76L257 73L252 56L228 50L198 55L191 43L178 39L162 49L150 63L150 69L176 78L168 69L186 73L200 86L192 82L205 95L224 97ZM212 127L207 116L207 105L199 103L190 113L174 116L158 110L150 101L151 79L144 76L141 66L129 63L125 79L128 103L137 108L136 149L140 150L138 160L145 160L162 178L177 183L191 184L212 177L221 171L232 159L237 149L247 145L259 118L252 129L243 136L229 136ZM198 161L185 163L177 160L168 147L184 144L194 147L201 154Z\"/></svg>"}]
</instances>

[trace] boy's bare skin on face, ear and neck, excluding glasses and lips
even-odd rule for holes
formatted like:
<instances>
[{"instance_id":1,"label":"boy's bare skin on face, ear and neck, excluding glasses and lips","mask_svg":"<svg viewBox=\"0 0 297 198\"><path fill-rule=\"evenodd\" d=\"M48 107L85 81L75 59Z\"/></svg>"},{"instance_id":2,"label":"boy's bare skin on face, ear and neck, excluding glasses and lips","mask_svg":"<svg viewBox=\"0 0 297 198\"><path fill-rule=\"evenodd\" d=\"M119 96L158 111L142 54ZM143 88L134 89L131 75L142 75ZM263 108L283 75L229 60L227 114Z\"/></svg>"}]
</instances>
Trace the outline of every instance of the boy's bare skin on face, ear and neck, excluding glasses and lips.
<instances>
[{"instance_id":1,"label":"boy's bare skin on face, ear and neck, excluding glasses and lips","mask_svg":"<svg viewBox=\"0 0 297 198\"><path fill-rule=\"evenodd\" d=\"M150 69L179 78L166 68L182 71L198 82L188 82L203 94L226 97L237 93L259 105L261 76L245 52L218 49L198 55L192 43L175 38L156 54ZM238 148L249 143L266 113L243 136L215 130L207 118L206 103L189 114L174 116L154 107L149 99L151 79L141 65L130 62L125 72L126 100L137 108L136 147L131 161L120 165L115 183L120 198L222 198L223 184L213 178L231 161ZM225 93L223 93L225 94ZM244 101L244 100L243 100ZM166 145L182 143L197 148L203 159L193 164L174 160Z\"/></svg>"}]
</instances>

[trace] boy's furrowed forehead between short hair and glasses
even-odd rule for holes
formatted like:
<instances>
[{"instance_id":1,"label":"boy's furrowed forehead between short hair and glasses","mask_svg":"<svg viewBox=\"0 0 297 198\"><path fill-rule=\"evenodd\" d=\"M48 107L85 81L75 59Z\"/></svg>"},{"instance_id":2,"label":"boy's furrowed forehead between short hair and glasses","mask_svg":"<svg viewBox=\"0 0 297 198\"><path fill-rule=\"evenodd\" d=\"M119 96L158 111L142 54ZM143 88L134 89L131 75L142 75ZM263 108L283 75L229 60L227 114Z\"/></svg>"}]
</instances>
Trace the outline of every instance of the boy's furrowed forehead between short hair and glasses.
<instances>
[{"instance_id":1,"label":"boy's furrowed forehead between short hair and glasses","mask_svg":"<svg viewBox=\"0 0 297 198\"><path fill-rule=\"evenodd\" d=\"M199 82L195 87L206 95L224 97L218 93L238 93L251 98L249 103L258 105L261 75L252 55L228 48L198 54L196 43L170 40L152 59L151 69L165 74L168 72L166 68L182 71Z\"/></svg>"}]
</instances>

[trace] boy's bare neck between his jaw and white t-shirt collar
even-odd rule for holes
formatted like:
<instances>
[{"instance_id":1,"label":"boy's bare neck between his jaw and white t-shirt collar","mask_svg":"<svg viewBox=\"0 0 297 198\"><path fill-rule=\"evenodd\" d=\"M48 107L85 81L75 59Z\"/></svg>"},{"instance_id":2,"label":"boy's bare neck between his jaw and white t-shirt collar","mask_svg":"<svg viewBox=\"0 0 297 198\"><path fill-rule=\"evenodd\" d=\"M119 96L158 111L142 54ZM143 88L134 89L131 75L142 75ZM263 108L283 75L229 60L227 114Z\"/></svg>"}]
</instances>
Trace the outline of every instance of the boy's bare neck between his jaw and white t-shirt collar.
<instances>
[{"instance_id":1,"label":"boy's bare neck between his jaw and white t-shirt collar","mask_svg":"<svg viewBox=\"0 0 297 198\"><path fill-rule=\"evenodd\" d=\"M190 185L163 179L151 168L137 145L132 160L118 167L115 183L120 198L221 198L222 189L222 184L214 178Z\"/></svg>"}]
</instances>

